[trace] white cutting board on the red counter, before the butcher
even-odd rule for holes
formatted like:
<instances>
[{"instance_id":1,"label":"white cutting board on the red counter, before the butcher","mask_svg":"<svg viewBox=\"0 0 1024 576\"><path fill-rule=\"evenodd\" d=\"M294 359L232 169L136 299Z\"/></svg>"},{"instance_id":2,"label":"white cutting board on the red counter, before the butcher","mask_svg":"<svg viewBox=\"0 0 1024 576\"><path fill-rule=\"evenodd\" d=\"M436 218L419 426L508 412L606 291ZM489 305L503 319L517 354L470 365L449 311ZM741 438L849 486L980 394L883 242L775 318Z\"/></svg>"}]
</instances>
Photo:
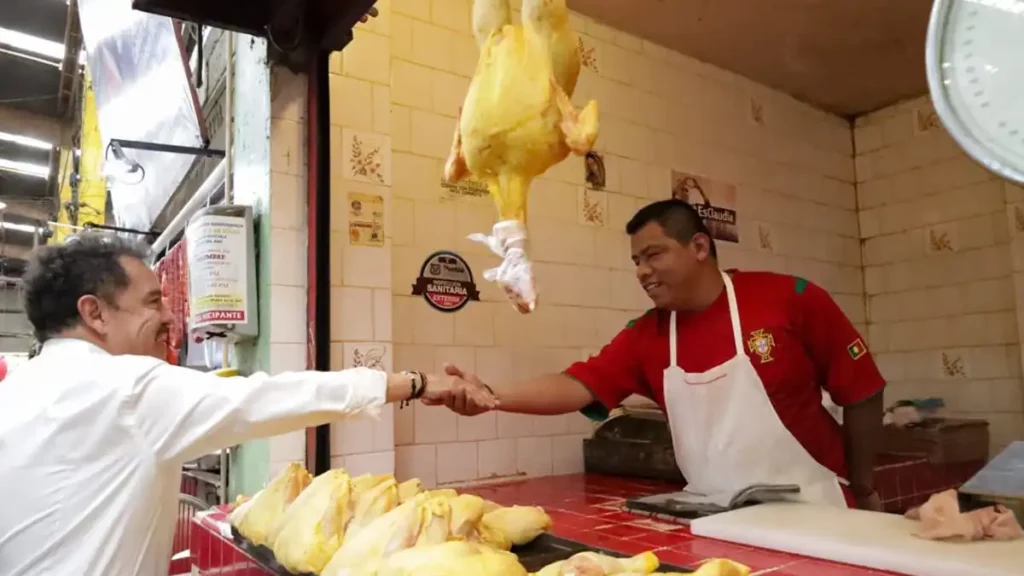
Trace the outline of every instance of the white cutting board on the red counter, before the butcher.
<instances>
[{"instance_id":1,"label":"white cutting board on the red counter, before the butcher","mask_svg":"<svg viewBox=\"0 0 1024 576\"><path fill-rule=\"evenodd\" d=\"M697 536L911 576L1021 576L1024 540L935 542L901 516L795 502L740 508L690 523Z\"/></svg>"}]
</instances>

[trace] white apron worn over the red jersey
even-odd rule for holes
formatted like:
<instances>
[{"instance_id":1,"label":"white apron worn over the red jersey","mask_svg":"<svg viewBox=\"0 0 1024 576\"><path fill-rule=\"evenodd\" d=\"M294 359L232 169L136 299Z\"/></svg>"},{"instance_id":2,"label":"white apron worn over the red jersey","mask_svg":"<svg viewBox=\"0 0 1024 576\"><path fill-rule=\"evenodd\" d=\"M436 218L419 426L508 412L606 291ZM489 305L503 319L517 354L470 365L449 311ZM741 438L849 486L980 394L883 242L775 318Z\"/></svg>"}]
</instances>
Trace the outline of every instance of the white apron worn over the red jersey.
<instances>
[{"instance_id":1,"label":"white apron worn over the red jersey","mask_svg":"<svg viewBox=\"0 0 1024 576\"><path fill-rule=\"evenodd\" d=\"M677 362L676 313L669 326L665 407L676 462L686 478L681 499L726 505L755 484L795 484L793 499L847 507L839 478L815 460L782 424L743 349L732 280L722 274L736 356L692 374Z\"/></svg>"}]
</instances>

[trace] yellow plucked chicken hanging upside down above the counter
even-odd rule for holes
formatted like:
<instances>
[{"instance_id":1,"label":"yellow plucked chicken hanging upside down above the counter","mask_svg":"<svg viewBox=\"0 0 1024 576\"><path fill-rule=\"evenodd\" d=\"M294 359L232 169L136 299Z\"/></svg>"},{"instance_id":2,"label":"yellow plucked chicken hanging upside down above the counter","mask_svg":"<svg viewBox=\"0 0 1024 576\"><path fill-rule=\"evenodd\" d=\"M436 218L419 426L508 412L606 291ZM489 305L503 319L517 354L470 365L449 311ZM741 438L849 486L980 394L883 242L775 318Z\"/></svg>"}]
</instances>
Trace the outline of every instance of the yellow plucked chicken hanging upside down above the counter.
<instances>
[{"instance_id":1,"label":"yellow plucked chicken hanging upside down above the counter","mask_svg":"<svg viewBox=\"0 0 1024 576\"><path fill-rule=\"evenodd\" d=\"M444 178L486 183L498 207L493 234L470 236L502 256L484 272L519 312L537 306L526 257L526 200L530 183L572 152L585 155L597 139L597 102L582 111L570 98L580 76L579 38L565 0L523 0L522 22L511 20L509 0L474 0L473 33L480 47L476 72L460 110Z\"/></svg>"}]
</instances>

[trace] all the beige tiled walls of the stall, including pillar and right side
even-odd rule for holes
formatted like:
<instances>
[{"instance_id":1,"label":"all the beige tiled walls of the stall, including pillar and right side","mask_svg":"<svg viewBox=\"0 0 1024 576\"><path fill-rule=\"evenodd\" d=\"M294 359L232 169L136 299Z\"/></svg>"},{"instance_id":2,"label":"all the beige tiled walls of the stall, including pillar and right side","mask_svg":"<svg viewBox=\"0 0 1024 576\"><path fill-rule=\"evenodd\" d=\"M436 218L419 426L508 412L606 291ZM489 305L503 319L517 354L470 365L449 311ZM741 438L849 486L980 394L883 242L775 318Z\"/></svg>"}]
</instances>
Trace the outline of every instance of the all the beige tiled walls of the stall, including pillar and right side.
<instances>
[{"instance_id":1,"label":"all the beige tiled walls of the stall, including pillar and right side","mask_svg":"<svg viewBox=\"0 0 1024 576\"><path fill-rule=\"evenodd\" d=\"M377 7L331 69L335 368L453 362L503 382L586 358L648 306L623 228L638 207L667 198L672 170L682 170L738 187L740 243L720 244L724 265L829 290L878 354L892 382L887 401L944 396L954 413L990 418L993 444L1021 437L1013 286L1024 251L1007 210L1024 210L1015 204L1024 193L965 159L941 129L915 129L914 111L927 102L858 120L855 159L847 121L574 17L588 60L574 100L600 102L607 187L584 194L578 158L535 182L529 233L542 296L523 317L482 281L497 258L465 240L490 230L490 201L440 186L477 55L470 1ZM352 193L383 199L385 246L350 244ZM596 207L597 222L585 205ZM932 232L951 251L931 247ZM438 249L470 262L482 301L445 315L411 295ZM943 358L966 375L945 374ZM580 471L591 430L579 415L465 418L395 407L379 420L336 423L332 446L335 465L446 485Z\"/></svg>"}]
</instances>

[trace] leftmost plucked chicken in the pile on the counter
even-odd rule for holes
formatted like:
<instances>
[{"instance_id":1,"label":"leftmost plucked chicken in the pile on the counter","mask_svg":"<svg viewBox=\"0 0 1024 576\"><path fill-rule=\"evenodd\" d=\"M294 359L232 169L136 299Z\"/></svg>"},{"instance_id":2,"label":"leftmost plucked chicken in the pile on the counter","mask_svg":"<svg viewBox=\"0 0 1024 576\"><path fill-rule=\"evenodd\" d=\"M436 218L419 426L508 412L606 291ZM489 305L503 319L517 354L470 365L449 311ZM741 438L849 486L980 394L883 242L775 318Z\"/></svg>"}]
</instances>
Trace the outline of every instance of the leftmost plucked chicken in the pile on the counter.
<instances>
[{"instance_id":1,"label":"leftmost plucked chicken in the pile on the counter","mask_svg":"<svg viewBox=\"0 0 1024 576\"><path fill-rule=\"evenodd\" d=\"M254 544L269 546L271 531L288 506L309 486L312 477L298 463L291 463L252 500L239 506L228 521Z\"/></svg>"}]
</instances>

